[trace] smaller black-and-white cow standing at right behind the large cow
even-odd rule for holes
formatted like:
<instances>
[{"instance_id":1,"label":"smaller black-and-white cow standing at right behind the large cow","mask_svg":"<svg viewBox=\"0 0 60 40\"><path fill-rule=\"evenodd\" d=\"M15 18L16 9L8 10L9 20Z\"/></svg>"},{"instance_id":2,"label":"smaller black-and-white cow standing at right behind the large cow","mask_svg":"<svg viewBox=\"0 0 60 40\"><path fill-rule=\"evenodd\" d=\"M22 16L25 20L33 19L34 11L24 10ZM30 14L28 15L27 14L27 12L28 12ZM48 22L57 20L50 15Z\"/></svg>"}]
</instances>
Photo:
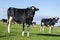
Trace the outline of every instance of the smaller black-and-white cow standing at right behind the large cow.
<instances>
[{"instance_id":1,"label":"smaller black-and-white cow standing at right behind the large cow","mask_svg":"<svg viewBox=\"0 0 60 40\"><path fill-rule=\"evenodd\" d=\"M59 18L55 17L55 18L47 18L47 19L42 19L41 20L41 28L40 31L44 31L45 26L49 26L49 33L52 32L53 30L53 26L55 25L55 23L57 23Z\"/></svg>"}]
</instances>

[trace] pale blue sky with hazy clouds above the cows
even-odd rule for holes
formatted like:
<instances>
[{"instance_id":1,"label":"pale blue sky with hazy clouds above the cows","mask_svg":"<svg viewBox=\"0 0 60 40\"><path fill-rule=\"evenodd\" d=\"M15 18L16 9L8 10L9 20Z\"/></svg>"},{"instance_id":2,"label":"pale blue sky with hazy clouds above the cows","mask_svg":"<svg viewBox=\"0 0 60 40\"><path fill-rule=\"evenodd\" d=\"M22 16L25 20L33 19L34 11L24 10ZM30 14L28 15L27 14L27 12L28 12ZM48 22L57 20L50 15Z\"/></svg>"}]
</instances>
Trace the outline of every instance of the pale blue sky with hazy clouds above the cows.
<instances>
[{"instance_id":1,"label":"pale blue sky with hazy clouds above the cows","mask_svg":"<svg viewBox=\"0 0 60 40\"><path fill-rule=\"evenodd\" d=\"M60 0L0 0L0 19L7 19L7 9L9 7L27 8L30 6L39 8L33 20L37 23L40 23L42 18L60 18Z\"/></svg>"}]
</instances>

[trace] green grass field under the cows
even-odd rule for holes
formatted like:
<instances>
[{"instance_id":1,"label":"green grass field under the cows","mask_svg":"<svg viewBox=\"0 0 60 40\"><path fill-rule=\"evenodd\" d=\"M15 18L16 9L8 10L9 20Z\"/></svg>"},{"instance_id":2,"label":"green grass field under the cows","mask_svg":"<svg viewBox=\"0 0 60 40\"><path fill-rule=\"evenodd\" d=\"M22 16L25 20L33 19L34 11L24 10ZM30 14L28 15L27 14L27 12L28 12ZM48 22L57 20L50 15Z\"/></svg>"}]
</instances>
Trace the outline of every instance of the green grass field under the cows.
<instances>
[{"instance_id":1,"label":"green grass field under the cows","mask_svg":"<svg viewBox=\"0 0 60 40\"><path fill-rule=\"evenodd\" d=\"M34 27L35 26L35 27ZM7 24L0 22L0 40L60 40L60 28L54 27L53 33L49 34L48 28L40 32L40 25L30 27L30 36L27 37L27 27L25 27L25 36L22 37L22 25L11 25L11 33L7 32Z\"/></svg>"}]
</instances>

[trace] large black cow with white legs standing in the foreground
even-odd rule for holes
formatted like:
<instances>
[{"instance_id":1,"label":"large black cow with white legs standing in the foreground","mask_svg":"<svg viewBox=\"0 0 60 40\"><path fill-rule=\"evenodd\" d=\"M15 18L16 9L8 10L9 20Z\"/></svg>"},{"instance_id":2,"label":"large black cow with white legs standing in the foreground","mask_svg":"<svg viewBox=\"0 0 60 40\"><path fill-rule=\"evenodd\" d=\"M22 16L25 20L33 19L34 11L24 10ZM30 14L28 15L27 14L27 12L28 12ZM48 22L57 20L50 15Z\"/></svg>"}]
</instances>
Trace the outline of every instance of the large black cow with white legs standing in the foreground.
<instances>
[{"instance_id":1,"label":"large black cow with white legs standing in the foreground","mask_svg":"<svg viewBox=\"0 0 60 40\"><path fill-rule=\"evenodd\" d=\"M24 27L25 27L25 23L28 25L27 29L27 36L29 36L29 30L30 30L30 24L33 21L33 17L35 14L35 11L38 11L39 9L31 6L29 8L25 8L25 9L19 9L19 8L13 8L10 7L8 8L8 33L10 33L10 24L11 21L14 20L17 23L22 23L23 25L23 32L22 32L22 36L24 36Z\"/></svg>"}]
</instances>

